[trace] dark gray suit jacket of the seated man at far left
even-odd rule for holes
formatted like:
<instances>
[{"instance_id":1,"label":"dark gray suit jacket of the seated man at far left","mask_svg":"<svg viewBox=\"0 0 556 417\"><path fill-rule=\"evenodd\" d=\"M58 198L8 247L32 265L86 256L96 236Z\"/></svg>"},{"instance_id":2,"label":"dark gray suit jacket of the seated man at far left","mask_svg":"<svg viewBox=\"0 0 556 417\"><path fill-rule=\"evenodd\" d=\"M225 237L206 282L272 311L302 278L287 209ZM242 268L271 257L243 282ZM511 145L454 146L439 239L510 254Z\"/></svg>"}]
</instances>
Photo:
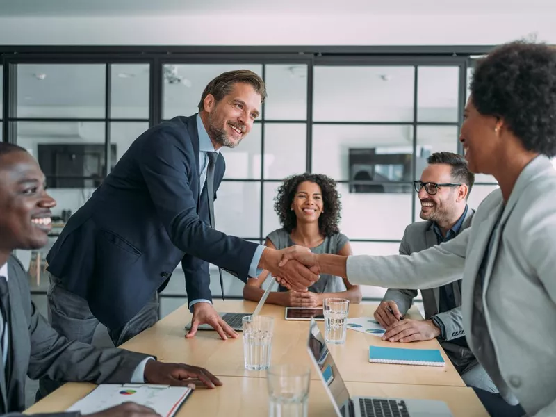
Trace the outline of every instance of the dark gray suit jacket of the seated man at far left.
<instances>
[{"instance_id":1,"label":"dark gray suit jacket of the seated man at far left","mask_svg":"<svg viewBox=\"0 0 556 417\"><path fill-rule=\"evenodd\" d=\"M64 381L124 383L131 381L133 370L147 357L121 349L100 350L60 336L31 302L28 275L15 256L8 260L8 288L11 371L4 379L0 360L0 414L22 416L19 412L25 407L26 375L31 379L48 376Z\"/></svg>"}]
</instances>

